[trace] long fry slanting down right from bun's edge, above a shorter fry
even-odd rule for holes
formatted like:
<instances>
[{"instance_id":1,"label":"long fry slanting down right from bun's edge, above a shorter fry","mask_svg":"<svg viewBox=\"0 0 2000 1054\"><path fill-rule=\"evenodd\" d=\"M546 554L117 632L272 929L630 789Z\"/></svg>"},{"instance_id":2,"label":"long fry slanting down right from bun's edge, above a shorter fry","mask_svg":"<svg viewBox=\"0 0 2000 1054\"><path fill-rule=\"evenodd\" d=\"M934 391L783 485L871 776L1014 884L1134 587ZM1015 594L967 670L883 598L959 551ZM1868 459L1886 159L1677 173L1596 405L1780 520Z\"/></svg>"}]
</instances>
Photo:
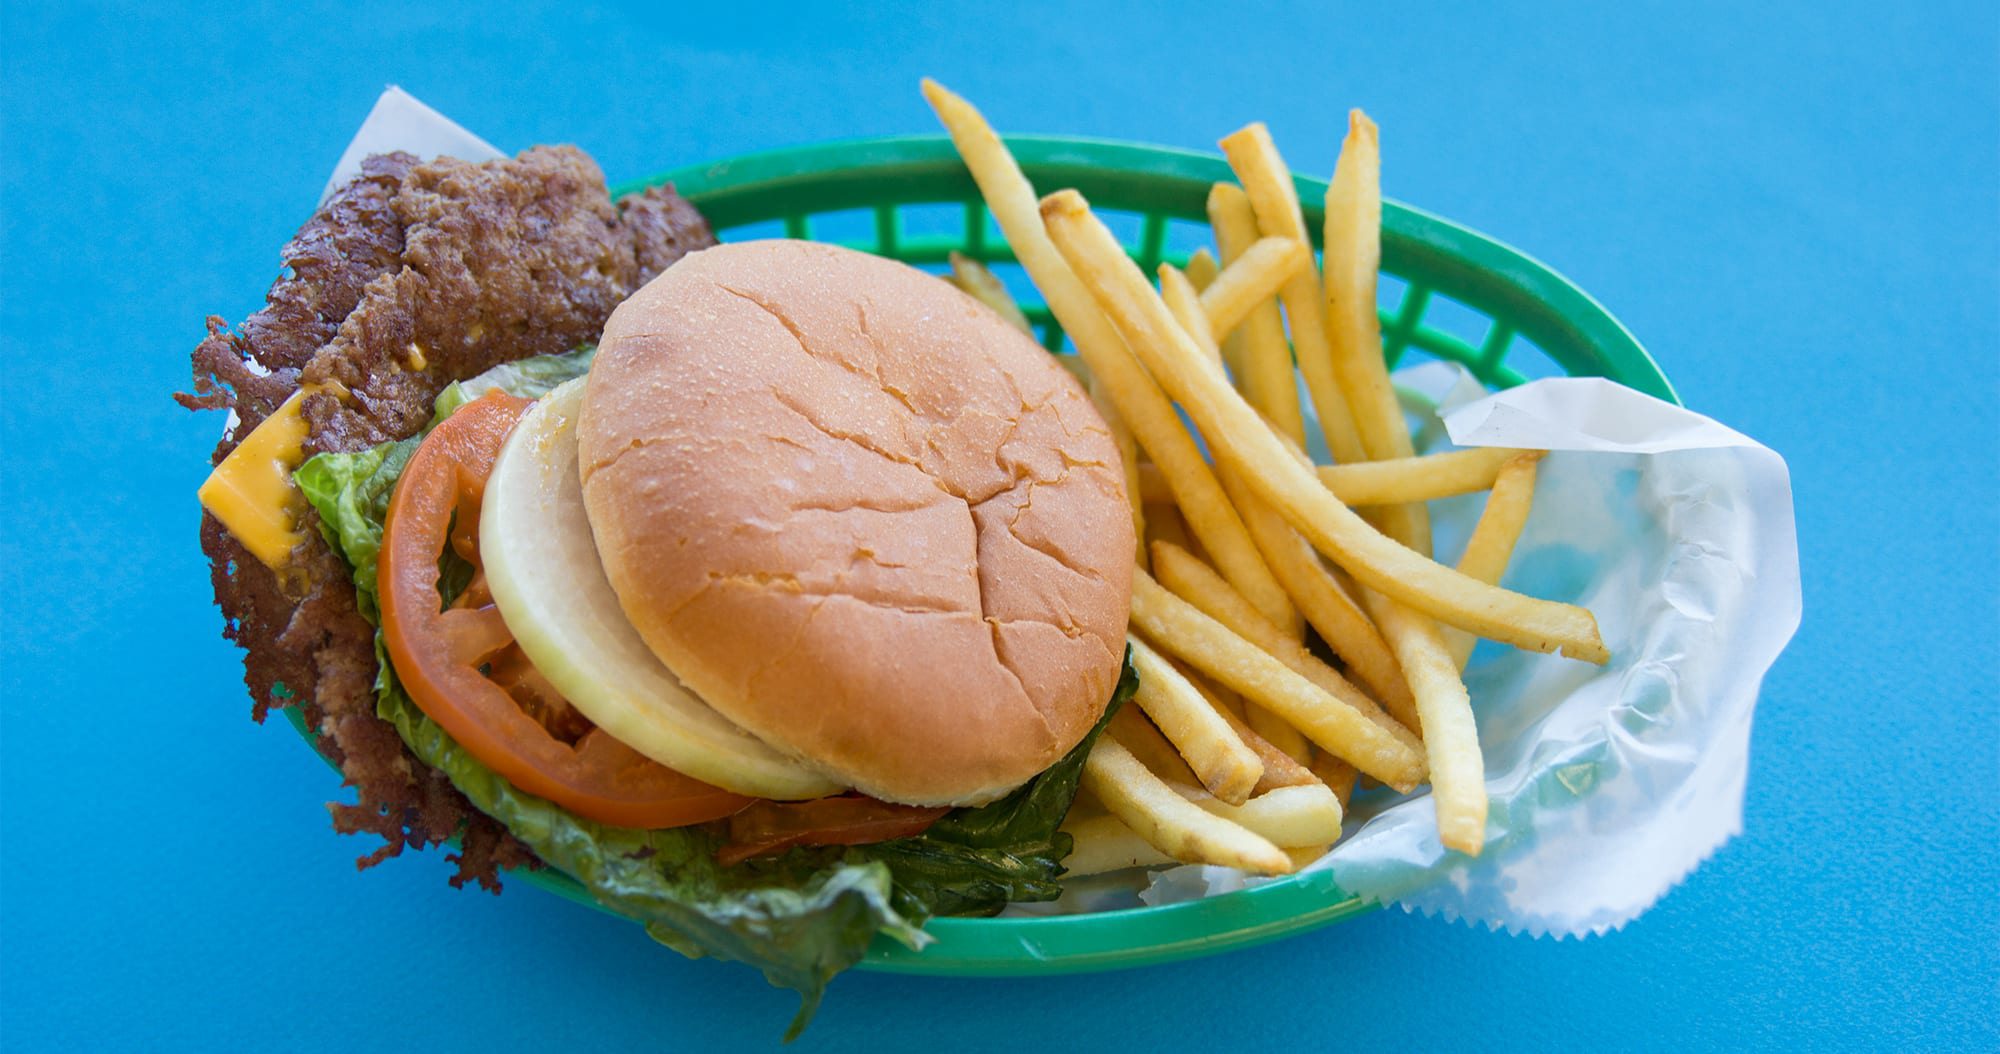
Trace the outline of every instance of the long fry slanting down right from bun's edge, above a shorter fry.
<instances>
[{"instance_id":1,"label":"long fry slanting down right from bun's edge, above a shorter fry","mask_svg":"<svg viewBox=\"0 0 2000 1054\"><path fill-rule=\"evenodd\" d=\"M1424 780L1424 754L1338 696L1292 672L1256 644L1174 596L1146 572L1132 578L1132 626L1156 648L1284 718L1314 744L1382 782L1408 790Z\"/></svg>"}]
</instances>

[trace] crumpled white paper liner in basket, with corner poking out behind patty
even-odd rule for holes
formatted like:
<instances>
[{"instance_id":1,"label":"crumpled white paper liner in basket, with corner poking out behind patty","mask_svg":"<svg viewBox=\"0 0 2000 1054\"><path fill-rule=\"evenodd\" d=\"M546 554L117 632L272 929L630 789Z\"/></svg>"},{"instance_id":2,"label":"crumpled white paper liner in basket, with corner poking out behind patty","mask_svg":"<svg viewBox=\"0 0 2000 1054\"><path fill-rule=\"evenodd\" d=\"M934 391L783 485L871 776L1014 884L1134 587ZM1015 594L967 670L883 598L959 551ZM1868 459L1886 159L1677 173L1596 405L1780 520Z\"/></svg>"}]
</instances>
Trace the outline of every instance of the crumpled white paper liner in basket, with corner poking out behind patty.
<instances>
[{"instance_id":1,"label":"crumpled white paper liner in basket, with corner poking out behind patty","mask_svg":"<svg viewBox=\"0 0 2000 1054\"><path fill-rule=\"evenodd\" d=\"M500 156L392 86L328 192L388 150ZM1428 792L1362 794L1346 838L1306 870L1332 870L1372 902L1510 932L1624 926L1742 830L1758 686L1800 618L1784 458L1608 380L1486 394L1464 370L1426 364L1396 382L1424 448L1552 452L1502 584L1590 608L1612 662L1482 642L1466 686L1492 800L1484 852L1440 846ZM1440 558L1456 558L1480 500L1432 502ZM1216 866L1102 876L1018 914L1134 906L1134 894L1170 904L1258 882Z\"/></svg>"}]
</instances>

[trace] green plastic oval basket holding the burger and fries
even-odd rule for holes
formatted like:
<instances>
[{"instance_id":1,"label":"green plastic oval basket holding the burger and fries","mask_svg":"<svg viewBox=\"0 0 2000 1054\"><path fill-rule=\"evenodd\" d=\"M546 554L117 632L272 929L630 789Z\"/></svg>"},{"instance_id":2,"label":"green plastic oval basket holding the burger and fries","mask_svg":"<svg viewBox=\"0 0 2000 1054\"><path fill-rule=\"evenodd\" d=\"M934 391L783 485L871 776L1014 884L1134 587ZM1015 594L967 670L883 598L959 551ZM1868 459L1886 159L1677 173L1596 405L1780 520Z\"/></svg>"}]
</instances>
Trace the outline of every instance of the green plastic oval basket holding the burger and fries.
<instances>
[{"instance_id":1,"label":"green plastic oval basket holding the burger and fries","mask_svg":"<svg viewBox=\"0 0 2000 1054\"><path fill-rule=\"evenodd\" d=\"M1234 180L1220 156L1128 142L1008 136L1022 170L1042 192L1072 186L1152 270L1182 262L1206 236L1214 182ZM990 264L1014 260L986 214L972 176L944 136L900 136L798 146L678 168L614 188L616 194L672 182L726 240L818 238L940 264L952 250ZM1324 180L1298 178L1306 228L1318 236ZM1384 202L1382 310L1390 364L1410 350L1462 362L1490 388L1534 376L1604 376L1678 402L1638 340L1584 290L1492 238L1428 212ZM1400 286L1400 294L1396 288ZM1022 292L1026 286L1022 286ZM1048 310L1024 298L1042 342L1062 350ZM298 722L296 710L286 710ZM304 730L300 726L300 730ZM560 872L512 876L598 908ZM1164 908L1046 918L936 918L936 942L910 952L878 940L868 970L956 976L1024 976L1110 970L1260 944L1370 910L1324 872Z\"/></svg>"}]
</instances>

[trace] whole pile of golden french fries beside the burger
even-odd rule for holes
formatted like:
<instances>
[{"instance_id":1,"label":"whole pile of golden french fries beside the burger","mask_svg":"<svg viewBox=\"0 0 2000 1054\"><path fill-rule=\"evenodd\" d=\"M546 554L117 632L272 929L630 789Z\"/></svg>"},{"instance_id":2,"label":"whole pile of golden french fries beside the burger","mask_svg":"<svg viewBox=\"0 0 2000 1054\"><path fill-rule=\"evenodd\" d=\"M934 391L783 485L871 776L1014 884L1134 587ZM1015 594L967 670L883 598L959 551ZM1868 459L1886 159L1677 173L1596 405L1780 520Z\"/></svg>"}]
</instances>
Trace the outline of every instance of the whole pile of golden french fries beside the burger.
<instances>
[{"instance_id":1,"label":"whole pile of golden french fries beside the burger","mask_svg":"<svg viewBox=\"0 0 2000 1054\"><path fill-rule=\"evenodd\" d=\"M1340 840L1358 776L1398 792L1428 782L1440 842L1478 854L1484 762L1460 676L1474 638L1586 662L1608 652L1588 610L1496 584L1542 454L1412 448L1376 318L1376 126L1350 114L1318 266L1290 168L1250 124L1222 140L1240 186L1208 196L1218 252L1162 264L1154 286L1078 192L1038 198L978 110L930 80L924 96L1076 346L1140 538L1138 706L1084 766L1070 874L1292 872ZM954 258L952 272L1026 328L980 264ZM1336 464L1304 452L1298 376ZM1490 494L1464 556L1436 562L1424 502L1478 490Z\"/></svg>"}]
</instances>

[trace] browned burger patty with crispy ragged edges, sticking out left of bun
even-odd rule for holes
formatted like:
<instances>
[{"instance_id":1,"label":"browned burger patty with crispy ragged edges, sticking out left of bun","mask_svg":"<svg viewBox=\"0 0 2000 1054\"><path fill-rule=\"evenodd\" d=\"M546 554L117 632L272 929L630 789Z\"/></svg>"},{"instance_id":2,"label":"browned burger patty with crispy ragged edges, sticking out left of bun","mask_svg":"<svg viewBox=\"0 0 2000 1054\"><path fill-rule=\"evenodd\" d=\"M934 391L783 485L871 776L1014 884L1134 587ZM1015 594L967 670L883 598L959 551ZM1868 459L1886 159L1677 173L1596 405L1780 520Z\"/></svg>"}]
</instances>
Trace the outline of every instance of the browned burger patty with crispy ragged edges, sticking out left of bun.
<instances>
[{"instance_id":1,"label":"browned burger patty with crispy ragged edges, sticking out left of bun","mask_svg":"<svg viewBox=\"0 0 2000 1054\"><path fill-rule=\"evenodd\" d=\"M176 400L236 410L216 464L302 382L348 392L302 400L308 454L406 438L446 384L594 342L632 290L714 242L670 186L612 202L596 162L570 146L484 164L374 156L286 244L288 274L264 310L236 330L208 318L194 392ZM354 608L346 564L314 514L304 518L280 580L202 514L222 634L244 648L252 716L304 708L356 790L356 804L328 804L334 828L384 840L360 866L460 834L452 884L498 890L498 870L534 864L532 854L376 718L374 628Z\"/></svg>"}]
</instances>

